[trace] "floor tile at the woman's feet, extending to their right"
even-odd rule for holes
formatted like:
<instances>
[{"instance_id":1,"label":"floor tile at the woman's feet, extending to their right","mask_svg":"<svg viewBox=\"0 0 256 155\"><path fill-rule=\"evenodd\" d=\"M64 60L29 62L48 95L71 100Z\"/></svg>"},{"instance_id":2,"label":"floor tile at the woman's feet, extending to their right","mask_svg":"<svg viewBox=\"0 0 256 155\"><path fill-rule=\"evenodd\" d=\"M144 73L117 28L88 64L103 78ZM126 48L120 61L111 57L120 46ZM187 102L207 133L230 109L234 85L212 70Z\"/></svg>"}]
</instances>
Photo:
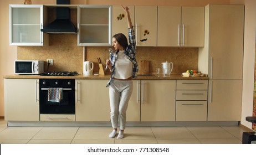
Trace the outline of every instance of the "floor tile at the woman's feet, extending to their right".
<instances>
[{"instance_id":1,"label":"floor tile at the woman's feet, extending to their right","mask_svg":"<svg viewBox=\"0 0 256 155\"><path fill-rule=\"evenodd\" d=\"M118 132L117 132L118 134ZM115 137L117 139L117 135ZM124 131L124 138L118 139L129 140L129 139L156 139L150 127L126 127Z\"/></svg>"}]
</instances>

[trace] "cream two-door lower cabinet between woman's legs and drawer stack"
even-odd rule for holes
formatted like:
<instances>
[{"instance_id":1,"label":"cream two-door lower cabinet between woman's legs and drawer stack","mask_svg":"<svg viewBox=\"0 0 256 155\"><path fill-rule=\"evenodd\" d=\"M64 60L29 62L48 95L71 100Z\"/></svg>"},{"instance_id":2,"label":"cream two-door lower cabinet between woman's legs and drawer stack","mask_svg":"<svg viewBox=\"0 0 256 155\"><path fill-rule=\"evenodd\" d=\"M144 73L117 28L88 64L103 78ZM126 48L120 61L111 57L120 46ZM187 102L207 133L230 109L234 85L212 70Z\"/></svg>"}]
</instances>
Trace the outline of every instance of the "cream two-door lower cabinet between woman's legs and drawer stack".
<instances>
[{"instance_id":1,"label":"cream two-door lower cabinet between woman's legs and drawer stack","mask_svg":"<svg viewBox=\"0 0 256 155\"><path fill-rule=\"evenodd\" d=\"M126 121L175 121L176 80L134 80Z\"/></svg>"}]
</instances>

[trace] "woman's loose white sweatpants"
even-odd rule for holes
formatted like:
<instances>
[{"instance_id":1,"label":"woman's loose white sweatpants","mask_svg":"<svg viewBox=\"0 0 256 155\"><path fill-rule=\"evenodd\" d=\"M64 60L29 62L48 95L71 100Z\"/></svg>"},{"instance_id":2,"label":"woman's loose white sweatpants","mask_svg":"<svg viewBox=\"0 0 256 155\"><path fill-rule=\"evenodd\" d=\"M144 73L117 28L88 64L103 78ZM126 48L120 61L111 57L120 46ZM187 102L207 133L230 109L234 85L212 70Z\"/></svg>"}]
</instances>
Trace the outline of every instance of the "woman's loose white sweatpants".
<instances>
[{"instance_id":1,"label":"woman's loose white sweatpants","mask_svg":"<svg viewBox=\"0 0 256 155\"><path fill-rule=\"evenodd\" d=\"M125 130L126 110L132 94L132 80L112 79L109 87L110 118L113 128L117 128L118 120L120 130Z\"/></svg>"}]
</instances>

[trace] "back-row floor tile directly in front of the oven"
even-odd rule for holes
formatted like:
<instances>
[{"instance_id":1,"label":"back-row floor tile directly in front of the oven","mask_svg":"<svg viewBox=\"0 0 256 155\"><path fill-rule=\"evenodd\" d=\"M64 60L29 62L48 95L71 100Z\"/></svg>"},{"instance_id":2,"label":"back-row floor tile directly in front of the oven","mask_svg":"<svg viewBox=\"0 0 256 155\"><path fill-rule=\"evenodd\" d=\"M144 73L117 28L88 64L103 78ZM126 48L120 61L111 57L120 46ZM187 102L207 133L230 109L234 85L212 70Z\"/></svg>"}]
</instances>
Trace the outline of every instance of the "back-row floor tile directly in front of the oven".
<instances>
[{"instance_id":1,"label":"back-row floor tile directly in front of the oven","mask_svg":"<svg viewBox=\"0 0 256 155\"><path fill-rule=\"evenodd\" d=\"M44 127L33 140L73 139L79 127Z\"/></svg>"}]
</instances>

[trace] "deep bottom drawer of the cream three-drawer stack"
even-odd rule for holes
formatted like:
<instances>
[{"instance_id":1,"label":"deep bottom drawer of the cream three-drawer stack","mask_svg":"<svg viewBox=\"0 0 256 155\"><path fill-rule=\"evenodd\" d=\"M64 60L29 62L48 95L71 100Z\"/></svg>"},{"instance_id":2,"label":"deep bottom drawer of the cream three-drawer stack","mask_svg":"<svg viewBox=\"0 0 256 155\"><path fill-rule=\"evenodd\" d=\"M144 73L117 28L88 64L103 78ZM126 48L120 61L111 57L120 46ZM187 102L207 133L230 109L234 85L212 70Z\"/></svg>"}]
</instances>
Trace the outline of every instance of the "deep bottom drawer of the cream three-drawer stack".
<instances>
[{"instance_id":1,"label":"deep bottom drawer of the cream three-drawer stack","mask_svg":"<svg viewBox=\"0 0 256 155\"><path fill-rule=\"evenodd\" d=\"M207 101L176 101L176 121L207 121Z\"/></svg>"}]
</instances>

